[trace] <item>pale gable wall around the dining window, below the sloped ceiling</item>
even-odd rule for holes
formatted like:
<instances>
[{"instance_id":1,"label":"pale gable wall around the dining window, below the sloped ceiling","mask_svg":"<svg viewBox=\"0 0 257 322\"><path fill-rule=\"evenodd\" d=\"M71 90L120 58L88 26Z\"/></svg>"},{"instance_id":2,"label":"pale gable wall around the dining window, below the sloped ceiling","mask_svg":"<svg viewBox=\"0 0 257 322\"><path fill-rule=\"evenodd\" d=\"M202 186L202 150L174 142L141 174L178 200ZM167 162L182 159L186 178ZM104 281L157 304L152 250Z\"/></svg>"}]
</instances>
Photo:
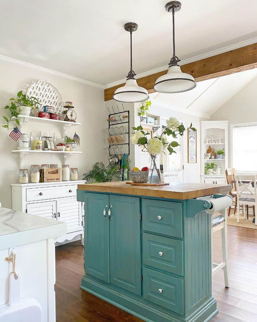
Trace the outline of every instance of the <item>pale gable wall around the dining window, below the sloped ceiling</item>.
<instances>
[{"instance_id":1,"label":"pale gable wall around the dining window, below the sloped ceiling","mask_svg":"<svg viewBox=\"0 0 257 322\"><path fill-rule=\"evenodd\" d=\"M257 77L211 115L211 120L228 120L228 148L230 164L230 125L257 121Z\"/></svg>"}]
</instances>

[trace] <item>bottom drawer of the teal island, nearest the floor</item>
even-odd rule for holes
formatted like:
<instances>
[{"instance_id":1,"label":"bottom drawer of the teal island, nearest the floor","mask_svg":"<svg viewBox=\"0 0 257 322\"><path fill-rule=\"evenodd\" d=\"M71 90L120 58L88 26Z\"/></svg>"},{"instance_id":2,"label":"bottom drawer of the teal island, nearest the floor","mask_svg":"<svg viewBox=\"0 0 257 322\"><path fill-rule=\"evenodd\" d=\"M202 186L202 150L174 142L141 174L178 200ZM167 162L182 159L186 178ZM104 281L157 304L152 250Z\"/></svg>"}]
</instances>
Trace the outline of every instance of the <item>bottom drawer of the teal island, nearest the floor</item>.
<instances>
[{"instance_id":1,"label":"bottom drawer of the teal island, nearest the floor","mask_svg":"<svg viewBox=\"0 0 257 322\"><path fill-rule=\"evenodd\" d=\"M143 268L144 298L178 314L184 314L184 280Z\"/></svg>"}]
</instances>

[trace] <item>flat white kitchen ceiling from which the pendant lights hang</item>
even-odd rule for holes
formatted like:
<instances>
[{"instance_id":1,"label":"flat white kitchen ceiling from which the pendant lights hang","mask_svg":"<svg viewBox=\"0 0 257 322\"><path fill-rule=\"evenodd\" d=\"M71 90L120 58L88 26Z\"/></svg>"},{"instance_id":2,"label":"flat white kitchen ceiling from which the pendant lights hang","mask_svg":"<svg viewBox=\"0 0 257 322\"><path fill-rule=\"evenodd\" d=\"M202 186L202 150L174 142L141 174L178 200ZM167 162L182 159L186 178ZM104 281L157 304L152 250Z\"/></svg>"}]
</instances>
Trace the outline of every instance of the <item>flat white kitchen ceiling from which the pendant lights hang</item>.
<instances>
[{"instance_id":1,"label":"flat white kitchen ceiling from which the pendant lights hang","mask_svg":"<svg viewBox=\"0 0 257 322\"><path fill-rule=\"evenodd\" d=\"M137 74L167 65L172 16L168 0L1 1L0 55L106 85L129 71L129 33ZM184 0L175 14L182 59L257 37L256 0ZM254 40L252 43L255 42Z\"/></svg>"}]
</instances>

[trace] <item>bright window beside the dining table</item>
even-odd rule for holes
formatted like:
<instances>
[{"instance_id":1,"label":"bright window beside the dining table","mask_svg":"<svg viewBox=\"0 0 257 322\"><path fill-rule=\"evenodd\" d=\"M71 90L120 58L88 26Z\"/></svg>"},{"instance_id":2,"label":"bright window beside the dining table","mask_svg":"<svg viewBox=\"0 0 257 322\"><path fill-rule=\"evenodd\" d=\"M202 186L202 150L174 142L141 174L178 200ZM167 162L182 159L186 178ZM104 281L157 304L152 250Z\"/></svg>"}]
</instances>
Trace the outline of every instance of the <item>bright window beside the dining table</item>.
<instances>
[{"instance_id":1,"label":"bright window beside the dining table","mask_svg":"<svg viewBox=\"0 0 257 322\"><path fill-rule=\"evenodd\" d=\"M257 171L257 123L231 126L232 167L236 171Z\"/></svg>"}]
</instances>

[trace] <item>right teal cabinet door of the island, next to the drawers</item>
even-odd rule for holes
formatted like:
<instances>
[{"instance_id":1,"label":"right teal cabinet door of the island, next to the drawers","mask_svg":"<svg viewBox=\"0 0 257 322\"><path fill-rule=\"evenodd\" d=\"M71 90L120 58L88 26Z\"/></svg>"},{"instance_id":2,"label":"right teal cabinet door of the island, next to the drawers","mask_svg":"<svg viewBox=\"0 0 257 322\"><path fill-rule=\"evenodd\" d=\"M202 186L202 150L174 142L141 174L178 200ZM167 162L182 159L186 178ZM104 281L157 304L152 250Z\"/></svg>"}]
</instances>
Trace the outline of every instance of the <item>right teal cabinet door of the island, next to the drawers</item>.
<instances>
[{"instance_id":1,"label":"right teal cabinet door of the island, next to the drawers","mask_svg":"<svg viewBox=\"0 0 257 322\"><path fill-rule=\"evenodd\" d=\"M140 201L110 195L111 283L141 295Z\"/></svg>"}]
</instances>

